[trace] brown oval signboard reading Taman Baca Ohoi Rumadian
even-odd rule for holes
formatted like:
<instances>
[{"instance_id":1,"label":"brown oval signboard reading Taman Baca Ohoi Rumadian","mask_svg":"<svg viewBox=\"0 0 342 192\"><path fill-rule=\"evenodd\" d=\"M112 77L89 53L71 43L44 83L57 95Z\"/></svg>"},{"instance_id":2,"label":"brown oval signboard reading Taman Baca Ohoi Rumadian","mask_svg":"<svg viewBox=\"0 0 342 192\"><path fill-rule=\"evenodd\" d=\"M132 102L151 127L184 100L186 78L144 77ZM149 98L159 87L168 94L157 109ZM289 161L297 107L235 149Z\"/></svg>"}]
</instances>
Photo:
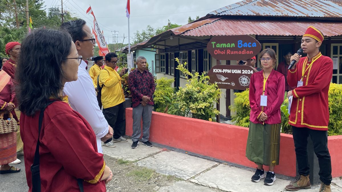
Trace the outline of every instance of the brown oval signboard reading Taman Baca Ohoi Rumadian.
<instances>
[{"instance_id":1,"label":"brown oval signboard reading Taman Baca Ohoi Rumadian","mask_svg":"<svg viewBox=\"0 0 342 192\"><path fill-rule=\"evenodd\" d=\"M260 52L261 44L249 35L215 36L207 50L217 60L246 60Z\"/></svg>"}]
</instances>

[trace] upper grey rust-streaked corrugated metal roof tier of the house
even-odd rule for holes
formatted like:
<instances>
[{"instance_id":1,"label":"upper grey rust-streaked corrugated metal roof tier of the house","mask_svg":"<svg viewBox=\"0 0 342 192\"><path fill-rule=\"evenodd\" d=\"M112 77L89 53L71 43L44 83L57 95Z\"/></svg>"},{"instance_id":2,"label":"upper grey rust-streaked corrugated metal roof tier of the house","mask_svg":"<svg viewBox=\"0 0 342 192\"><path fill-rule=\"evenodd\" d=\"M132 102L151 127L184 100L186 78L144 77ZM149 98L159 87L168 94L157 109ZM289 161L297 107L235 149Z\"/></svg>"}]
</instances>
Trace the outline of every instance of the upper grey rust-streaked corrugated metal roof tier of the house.
<instances>
[{"instance_id":1,"label":"upper grey rust-streaked corrugated metal roof tier of the house","mask_svg":"<svg viewBox=\"0 0 342 192\"><path fill-rule=\"evenodd\" d=\"M217 16L342 18L341 0L244 0L210 12Z\"/></svg>"}]
</instances>

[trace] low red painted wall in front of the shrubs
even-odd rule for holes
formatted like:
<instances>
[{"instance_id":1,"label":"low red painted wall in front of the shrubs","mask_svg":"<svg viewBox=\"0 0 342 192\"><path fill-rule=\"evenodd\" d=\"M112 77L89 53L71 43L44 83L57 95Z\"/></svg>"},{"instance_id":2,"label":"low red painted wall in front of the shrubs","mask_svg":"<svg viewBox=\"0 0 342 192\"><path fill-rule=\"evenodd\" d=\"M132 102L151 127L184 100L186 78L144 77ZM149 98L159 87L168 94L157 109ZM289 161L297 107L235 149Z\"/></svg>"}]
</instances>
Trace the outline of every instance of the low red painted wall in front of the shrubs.
<instances>
[{"instance_id":1,"label":"low red painted wall in front of the shrubs","mask_svg":"<svg viewBox=\"0 0 342 192\"><path fill-rule=\"evenodd\" d=\"M126 135L132 135L132 108L126 109ZM153 112L150 141L190 151L215 159L255 168L247 159L248 128ZM342 176L342 136L329 136L332 176ZM296 161L292 135L280 135L278 174L296 176Z\"/></svg>"}]
</instances>

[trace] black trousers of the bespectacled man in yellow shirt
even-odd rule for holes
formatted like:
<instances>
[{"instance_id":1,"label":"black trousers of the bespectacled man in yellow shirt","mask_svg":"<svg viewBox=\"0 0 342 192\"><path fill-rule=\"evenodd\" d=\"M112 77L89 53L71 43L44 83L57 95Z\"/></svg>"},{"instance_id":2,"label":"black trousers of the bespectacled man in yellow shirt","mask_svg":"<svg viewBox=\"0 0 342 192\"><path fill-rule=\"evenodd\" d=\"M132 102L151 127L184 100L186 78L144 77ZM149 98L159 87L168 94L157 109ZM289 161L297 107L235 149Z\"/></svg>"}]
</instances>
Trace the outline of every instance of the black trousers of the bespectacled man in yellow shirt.
<instances>
[{"instance_id":1,"label":"black trousers of the bespectacled man in yellow shirt","mask_svg":"<svg viewBox=\"0 0 342 192\"><path fill-rule=\"evenodd\" d=\"M105 119L108 124L113 128L114 134L113 138L118 139L126 133L126 117L125 108L123 107L123 102L114 107L109 107L102 110ZM112 139L108 139L105 143L108 143Z\"/></svg>"}]
</instances>

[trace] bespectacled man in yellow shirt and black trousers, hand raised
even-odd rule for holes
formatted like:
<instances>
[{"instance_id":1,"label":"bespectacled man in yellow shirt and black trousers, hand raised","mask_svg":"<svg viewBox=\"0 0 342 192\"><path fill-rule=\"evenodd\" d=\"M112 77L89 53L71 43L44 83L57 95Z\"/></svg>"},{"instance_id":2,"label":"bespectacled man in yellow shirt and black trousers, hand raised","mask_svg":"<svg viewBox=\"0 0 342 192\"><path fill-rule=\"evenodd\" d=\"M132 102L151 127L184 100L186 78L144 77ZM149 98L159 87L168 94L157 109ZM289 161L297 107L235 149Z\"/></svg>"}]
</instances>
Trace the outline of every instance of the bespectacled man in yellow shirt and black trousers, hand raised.
<instances>
[{"instance_id":1,"label":"bespectacled man in yellow shirt and black trousers, hand raised","mask_svg":"<svg viewBox=\"0 0 342 192\"><path fill-rule=\"evenodd\" d=\"M120 73L116 72L115 68L119 63L116 53L107 53L105 59L106 66L100 71L98 84L102 87L102 112L108 124L113 127L114 134L113 139L108 139L104 143L107 147L115 147L114 142L127 142L127 139L122 137L126 128L126 119L123 107L125 97L121 85L121 76L127 72L127 68L124 67Z\"/></svg>"}]
</instances>

